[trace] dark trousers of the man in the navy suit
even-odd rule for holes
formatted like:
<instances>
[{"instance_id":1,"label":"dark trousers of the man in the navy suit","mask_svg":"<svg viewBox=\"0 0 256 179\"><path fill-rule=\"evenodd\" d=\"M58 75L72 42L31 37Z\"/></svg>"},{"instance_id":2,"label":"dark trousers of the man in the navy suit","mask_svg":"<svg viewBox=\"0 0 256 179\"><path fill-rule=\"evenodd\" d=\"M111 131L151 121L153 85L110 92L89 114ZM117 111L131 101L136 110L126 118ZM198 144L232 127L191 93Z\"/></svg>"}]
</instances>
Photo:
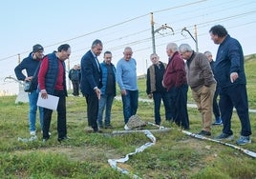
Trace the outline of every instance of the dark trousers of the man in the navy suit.
<instances>
[{"instance_id":1,"label":"dark trousers of the man in the navy suit","mask_svg":"<svg viewBox=\"0 0 256 179\"><path fill-rule=\"evenodd\" d=\"M96 96L96 92L93 94L85 95L86 103L87 103L87 118L88 118L88 126L92 127L95 131L97 131L97 111L98 111L98 99Z\"/></svg>"}]
</instances>

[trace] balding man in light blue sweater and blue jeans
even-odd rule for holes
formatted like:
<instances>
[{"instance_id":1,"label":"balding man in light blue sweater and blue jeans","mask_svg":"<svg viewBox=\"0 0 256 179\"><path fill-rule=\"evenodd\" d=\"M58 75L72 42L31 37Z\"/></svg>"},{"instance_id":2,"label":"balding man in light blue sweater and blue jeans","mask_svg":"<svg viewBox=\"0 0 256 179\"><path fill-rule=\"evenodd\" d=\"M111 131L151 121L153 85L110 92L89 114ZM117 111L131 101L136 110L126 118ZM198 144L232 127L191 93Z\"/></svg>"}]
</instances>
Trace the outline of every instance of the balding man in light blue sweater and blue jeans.
<instances>
[{"instance_id":1,"label":"balding man in light blue sweater and blue jeans","mask_svg":"<svg viewBox=\"0 0 256 179\"><path fill-rule=\"evenodd\" d=\"M137 84L136 60L132 58L133 50L127 47L123 57L117 62L117 84L121 90L124 123L126 124L138 109L139 90Z\"/></svg>"}]
</instances>

